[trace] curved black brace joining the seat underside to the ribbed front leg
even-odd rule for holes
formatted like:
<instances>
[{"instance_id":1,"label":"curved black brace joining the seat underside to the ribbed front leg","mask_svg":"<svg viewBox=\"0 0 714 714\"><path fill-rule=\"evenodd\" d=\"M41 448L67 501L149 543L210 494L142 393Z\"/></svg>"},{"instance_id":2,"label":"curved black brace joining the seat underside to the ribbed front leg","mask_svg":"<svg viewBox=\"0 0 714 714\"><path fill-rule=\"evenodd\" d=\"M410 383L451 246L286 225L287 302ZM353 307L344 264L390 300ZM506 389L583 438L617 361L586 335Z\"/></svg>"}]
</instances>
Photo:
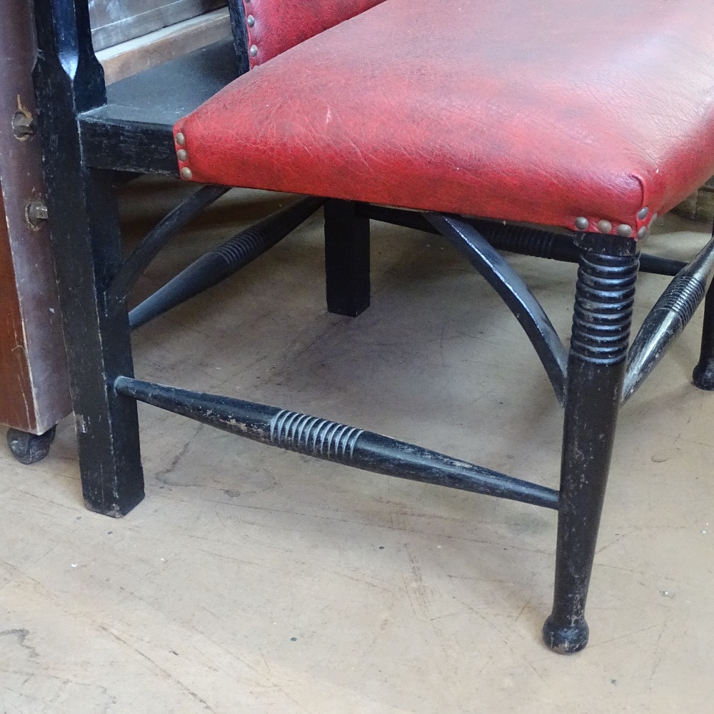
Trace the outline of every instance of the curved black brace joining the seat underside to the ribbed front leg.
<instances>
[{"instance_id":1,"label":"curved black brace joining the seat underside to the ribbed front leg","mask_svg":"<svg viewBox=\"0 0 714 714\"><path fill-rule=\"evenodd\" d=\"M568 351L543 307L523 282L523 278L508 265L501 253L463 218L444 216L441 213L427 213L426 218L444 238L466 255L471 265L486 278L488 284L516 316L538 353L545 373L553 385L555 396L562 405L565 399Z\"/></svg>"}]
</instances>

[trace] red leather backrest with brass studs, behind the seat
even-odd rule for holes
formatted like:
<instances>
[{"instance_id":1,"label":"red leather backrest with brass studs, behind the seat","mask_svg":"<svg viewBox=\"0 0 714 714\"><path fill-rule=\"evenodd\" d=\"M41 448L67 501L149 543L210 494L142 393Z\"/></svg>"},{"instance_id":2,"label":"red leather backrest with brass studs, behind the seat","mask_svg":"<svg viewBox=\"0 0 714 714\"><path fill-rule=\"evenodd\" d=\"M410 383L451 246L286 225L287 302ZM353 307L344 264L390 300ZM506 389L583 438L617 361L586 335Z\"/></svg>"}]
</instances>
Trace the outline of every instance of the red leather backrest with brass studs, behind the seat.
<instances>
[{"instance_id":1,"label":"red leather backrest with brass studs, behind the seat","mask_svg":"<svg viewBox=\"0 0 714 714\"><path fill-rule=\"evenodd\" d=\"M240 0L248 20L251 68L383 0Z\"/></svg>"}]
</instances>

